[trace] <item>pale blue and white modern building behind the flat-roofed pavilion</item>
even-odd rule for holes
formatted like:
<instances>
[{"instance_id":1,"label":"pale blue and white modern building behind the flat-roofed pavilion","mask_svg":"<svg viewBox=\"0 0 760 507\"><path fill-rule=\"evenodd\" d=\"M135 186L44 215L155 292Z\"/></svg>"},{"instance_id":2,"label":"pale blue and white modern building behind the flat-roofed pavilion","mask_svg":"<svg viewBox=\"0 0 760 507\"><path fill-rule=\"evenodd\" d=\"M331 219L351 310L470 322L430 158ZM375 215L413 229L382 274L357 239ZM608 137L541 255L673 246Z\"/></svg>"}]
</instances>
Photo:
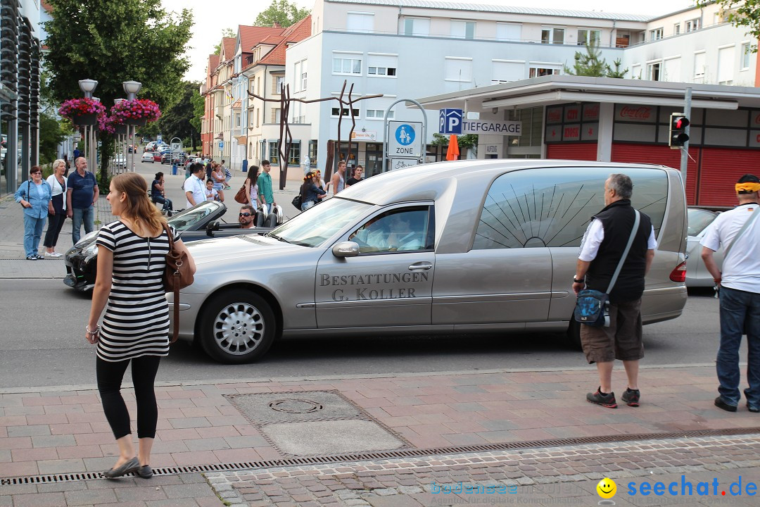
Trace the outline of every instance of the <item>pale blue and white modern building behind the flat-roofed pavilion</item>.
<instances>
[{"instance_id":1,"label":"pale blue and white modern building behind the flat-roofed pavilion","mask_svg":"<svg viewBox=\"0 0 760 507\"><path fill-rule=\"evenodd\" d=\"M348 157L350 165L363 163L369 174L385 138L383 114L395 100L564 74L587 40L600 43L601 56L610 65L620 59L621 68L628 69L626 78L755 84L756 56L746 52L751 41L742 29L724 23L715 5L652 20L634 14L477 6L484 7L489 10L417 0L318 0L312 36L287 50L285 83L291 97L308 100L337 98L344 81L345 100L352 85L353 98L382 93L353 106L354 132L361 141L352 154L346 146L351 121L343 106L347 116L341 122L340 157ZM327 141L338 137L338 110L335 100L291 106L290 121L299 121L291 129L301 154L306 154L306 144L310 155L316 149L312 166L325 167ZM418 109L403 103L392 114L394 119L422 119ZM427 112L427 120L429 143L438 132L437 112Z\"/></svg>"}]
</instances>

